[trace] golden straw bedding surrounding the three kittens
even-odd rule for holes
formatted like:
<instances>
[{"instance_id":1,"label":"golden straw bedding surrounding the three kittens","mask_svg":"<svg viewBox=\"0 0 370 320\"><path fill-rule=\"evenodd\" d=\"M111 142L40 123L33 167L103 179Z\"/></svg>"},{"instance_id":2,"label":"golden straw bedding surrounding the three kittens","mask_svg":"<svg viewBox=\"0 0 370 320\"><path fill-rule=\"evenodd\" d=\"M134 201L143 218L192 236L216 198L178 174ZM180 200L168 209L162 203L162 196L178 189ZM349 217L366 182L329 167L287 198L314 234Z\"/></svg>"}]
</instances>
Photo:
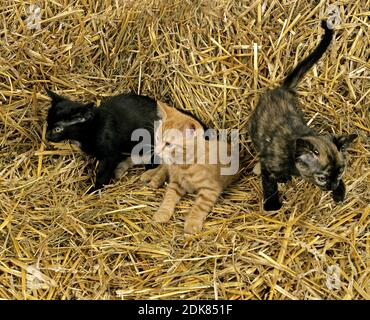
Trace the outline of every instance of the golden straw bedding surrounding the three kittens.
<instances>
[{"instance_id":1,"label":"golden straw bedding surrounding the three kittens","mask_svg":"<svg viewBox=\"0 0 370 320\"><path fill-rule=\"evenodd\" d=\"M369 299L370 2L333 3L342 24L299 92L312 127L359 135L347 198L294 179L267 213L245 124L317 45L329 1L1 1L0 298ZM164 189L140 183L141 167L86 195L93 160L44 139L45 86L97 103L134 91L239 128L246 173L194 236L192 195L152 222Z\"/></svg>"}]
</instances>

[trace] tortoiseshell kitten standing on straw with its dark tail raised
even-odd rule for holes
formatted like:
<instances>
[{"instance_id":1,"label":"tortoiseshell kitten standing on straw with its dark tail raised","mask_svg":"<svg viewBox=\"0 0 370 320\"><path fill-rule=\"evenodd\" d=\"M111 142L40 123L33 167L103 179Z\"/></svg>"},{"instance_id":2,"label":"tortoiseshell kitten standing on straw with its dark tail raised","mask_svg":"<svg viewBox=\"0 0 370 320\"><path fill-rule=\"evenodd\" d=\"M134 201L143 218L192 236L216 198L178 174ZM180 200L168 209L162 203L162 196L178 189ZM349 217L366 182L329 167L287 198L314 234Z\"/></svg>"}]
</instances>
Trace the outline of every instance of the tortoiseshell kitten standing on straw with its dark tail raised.
<instances>
[{"instance_id":1,"label":"tortoiseshell kitten standing on straw with its dark tail raised","mask_svg":"<svg viewBox=\"0 0 370 320\"><path fill-rule=\"evenodd\" d=\"M286 77L282 86L263 94L248 122L248 131L259 153L265 210L279 210L278 182L291 176L331 190L335 202L345 197L342 180L344 151L356 134L319 135L304 120L295 92L304 74L328 48L333 30L322 22L325 34L316 49Z\"/></svg>"}]
</instances>

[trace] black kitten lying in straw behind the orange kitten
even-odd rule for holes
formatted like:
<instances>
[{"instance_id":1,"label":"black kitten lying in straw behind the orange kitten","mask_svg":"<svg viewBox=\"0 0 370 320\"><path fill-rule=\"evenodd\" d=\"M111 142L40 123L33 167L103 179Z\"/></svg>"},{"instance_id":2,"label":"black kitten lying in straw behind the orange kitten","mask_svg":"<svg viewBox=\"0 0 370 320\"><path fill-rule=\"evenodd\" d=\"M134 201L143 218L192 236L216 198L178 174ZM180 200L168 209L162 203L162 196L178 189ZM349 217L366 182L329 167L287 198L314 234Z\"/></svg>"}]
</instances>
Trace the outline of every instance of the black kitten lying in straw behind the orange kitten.
<instances>
[{"instance_id":1,"label":"black kitten lying in straw behind the orange kitten","mask_svg":"<svg viewBox=\"0 0 370 320\"><path fill-rule=\"evenodd\" d=\"M138 144L131 140L134 130L147 129L153 146L154 121L159 120L155 100L120 94L97 108L93 103L74 102L50 90L47 93L52 105L46 138L52 142L77 141L82 151L99 160L93 190L102 188L114 174L118 177L131 166L131 151Z\"/></svg>"}]
</instances>

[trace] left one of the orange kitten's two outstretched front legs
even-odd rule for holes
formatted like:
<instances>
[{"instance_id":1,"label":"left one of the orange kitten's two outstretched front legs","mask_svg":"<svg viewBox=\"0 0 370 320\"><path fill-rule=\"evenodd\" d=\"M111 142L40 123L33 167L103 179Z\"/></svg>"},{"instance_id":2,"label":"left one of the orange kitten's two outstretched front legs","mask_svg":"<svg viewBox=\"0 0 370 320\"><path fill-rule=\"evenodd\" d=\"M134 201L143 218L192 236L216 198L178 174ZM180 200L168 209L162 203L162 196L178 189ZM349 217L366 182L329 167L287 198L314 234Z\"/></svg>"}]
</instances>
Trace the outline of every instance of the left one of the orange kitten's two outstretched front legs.
<instances>
[{"instance_id":1,"label":"left one of the orange kitten's two outstretched front legs","mask_svg":"<svg viewBox=\"0 0 370 320\"><path fill-rule=\"evenodd\" d=\"M163 202L154 214L155 222L167 222L175 212L177 202L185 194L185 190L177 182L170 182L167 186Z\"/></svg>"}]
</instances>

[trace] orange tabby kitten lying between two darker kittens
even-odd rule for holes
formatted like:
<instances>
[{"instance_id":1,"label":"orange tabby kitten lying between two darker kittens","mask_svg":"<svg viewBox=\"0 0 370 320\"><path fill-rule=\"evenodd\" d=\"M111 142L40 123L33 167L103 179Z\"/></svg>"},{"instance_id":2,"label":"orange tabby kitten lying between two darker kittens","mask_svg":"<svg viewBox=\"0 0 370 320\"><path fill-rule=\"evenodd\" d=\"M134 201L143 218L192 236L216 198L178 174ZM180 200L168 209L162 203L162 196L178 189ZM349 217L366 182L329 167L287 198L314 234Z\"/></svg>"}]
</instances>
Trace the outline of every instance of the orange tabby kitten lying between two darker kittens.
<instances>
[{"instance_id":1,"label":"orange tabby kitten lying between two darker kittens","mask_svg":"<svg viewBox=\"0 0 370 320\"><path fill-rule=\"evenodd\" d=\"M231 145L217 139L206 140L198 121L164 103L158 102L158 106L162 120L155 132L155 153L161 157L163 164L146 171L142 180L149 182L152 187L159 187L169 178L164 200L153 217L156 222L167 222L176 204L186 193L197 194L184 227L186 233L193 234L202 230L203 221L218 197L238 175L237 172L222 175L222 168L227 165L221 164L218 154L210 152L215 150L211 148L218 146L230 154ZM174 134L171 129L178 131ZM231 153L231 156L234 155L239 166L237 151L237 154Z\"/></svg>"}]
</instances>

